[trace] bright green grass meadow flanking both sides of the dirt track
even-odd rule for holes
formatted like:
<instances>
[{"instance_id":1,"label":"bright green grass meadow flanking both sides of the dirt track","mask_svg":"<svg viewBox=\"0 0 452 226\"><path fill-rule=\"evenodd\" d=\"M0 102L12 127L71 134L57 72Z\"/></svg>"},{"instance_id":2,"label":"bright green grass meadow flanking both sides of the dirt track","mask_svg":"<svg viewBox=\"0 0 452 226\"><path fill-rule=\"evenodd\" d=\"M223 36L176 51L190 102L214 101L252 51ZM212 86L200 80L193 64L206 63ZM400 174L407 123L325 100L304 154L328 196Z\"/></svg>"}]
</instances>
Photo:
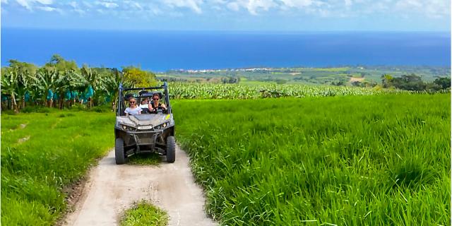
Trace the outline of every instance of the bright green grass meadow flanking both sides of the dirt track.
<instances>
[{"instance_id":1,"label":"bright green grass meadow flanking both sides of the dirt track","mask_svg":"<svg viewBox=\"0 0 452 226\"><path fill-rule=\"evenodd\" d=\"M172 105L177 142L223 225L448 225L450 101L381 93ZM114 114L93 110L3 112L2 225L61 218L68 188L114 145ZM140 222L143 209L126 219Z\"/></svg>"}]
</instances>

